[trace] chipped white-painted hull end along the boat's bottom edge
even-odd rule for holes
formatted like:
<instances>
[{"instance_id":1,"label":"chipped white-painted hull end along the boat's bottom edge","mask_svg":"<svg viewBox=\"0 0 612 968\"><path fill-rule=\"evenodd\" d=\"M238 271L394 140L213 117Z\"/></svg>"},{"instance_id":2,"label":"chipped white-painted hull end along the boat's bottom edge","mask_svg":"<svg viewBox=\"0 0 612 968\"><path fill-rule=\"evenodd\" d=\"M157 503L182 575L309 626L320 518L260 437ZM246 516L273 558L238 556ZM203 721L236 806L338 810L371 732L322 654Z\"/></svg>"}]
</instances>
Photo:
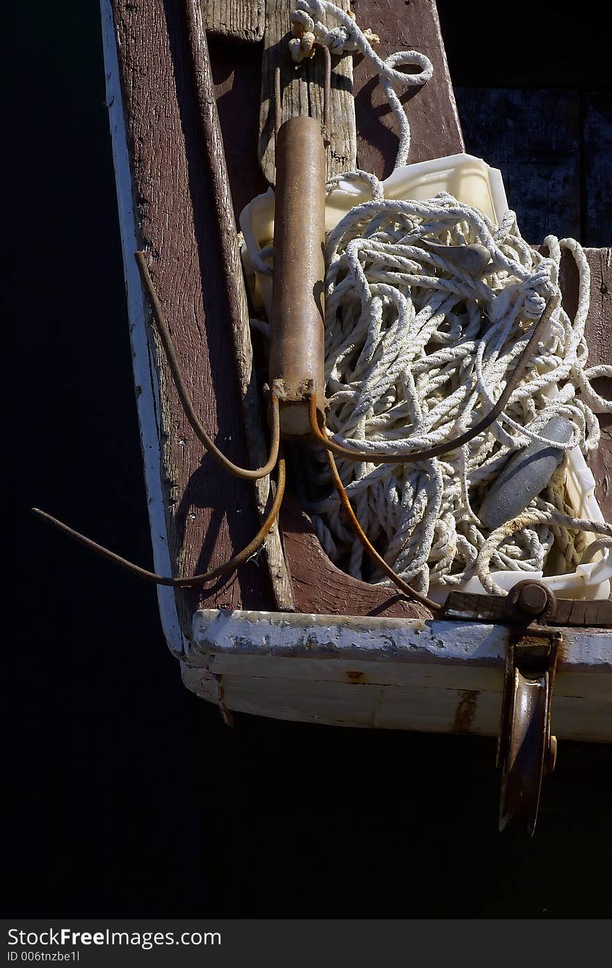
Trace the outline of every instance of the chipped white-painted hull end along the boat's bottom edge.
<instances>
[{"instance_id":1,"label":"chipped white-painted hull end along the boat's bottom edge","mask_svg":"<svg viewBox=\"0 0 612 968\"><path fill-rule=\"evenodd\" d=\"M612 741L612 632L564 634L552 732ZM225 711L495 736L506 638L476 622L201 610L182 676Z\"/></svg>"}]
</instances>

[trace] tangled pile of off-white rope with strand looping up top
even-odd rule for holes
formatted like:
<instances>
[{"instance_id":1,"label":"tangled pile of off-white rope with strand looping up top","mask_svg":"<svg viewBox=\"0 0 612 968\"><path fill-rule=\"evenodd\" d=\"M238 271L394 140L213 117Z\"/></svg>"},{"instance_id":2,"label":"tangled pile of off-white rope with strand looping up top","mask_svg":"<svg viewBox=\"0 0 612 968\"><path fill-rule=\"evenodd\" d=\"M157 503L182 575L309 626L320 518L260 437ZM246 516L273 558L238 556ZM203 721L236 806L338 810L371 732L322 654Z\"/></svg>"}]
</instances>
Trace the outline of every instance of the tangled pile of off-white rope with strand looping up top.
<instances>
[{"instance_id":1,"label":"tangled pile of off-white rope with strand looping up top","mask_svg":"<svg viewBox=\"0 0 612 968\"><path fill-rule=\"evenodd\" d=\"M325 0L297 0L296 8L294 60L321 43L334 53L358 49L376 65L400 131L396 166L403 165L410 127L391 85L423 83L433 73L429 60L402 51L383 61L372 49L373 35ZM338 26L327 28L326 15ZM421 73L396 70L405 64L416 64ZM406 466L338 460L361 527L396 573L425 594L474 575L489 593L504 593L492 568L541 572L553 545L564 570L572 570L585 554L585 532L607 536L597 542L599 549L609 546L612 527L574 515L563 465L545 492L501 528L485 529L477 510L511 454L531 440L550 442L541 432L553 416L566 417L574 429L566 444L554 446L580 446L585 453L597 447L594 411L610 412L612 404L591 381L612 376L612 366L586 368L590 270L583 250L573 239L551 235L544 240L545 257L523 240L513 212L498 227L445 193L425 202L386 199L383 184L363 171L331 180L327 193L347 179L365 181L372 200L353 208L326 241L326 424L336 442L408 454L470 430L499 399L546 303L554 304L548 331L504 412L470 443L444 458ZM478 244L490 259L469 272L452 248L441 252L432 242ZM564 250L580 277L573 320L561 305ZM270 247L260 253L258 271L270 271L265 260L271 255ZM319 482L329 484L326 464L320 465ZM364 560L335 491L310 511L331 560L355 578L385 581ZM592 545L584 560L597 549Z\"/></svg>"}]
</instances>

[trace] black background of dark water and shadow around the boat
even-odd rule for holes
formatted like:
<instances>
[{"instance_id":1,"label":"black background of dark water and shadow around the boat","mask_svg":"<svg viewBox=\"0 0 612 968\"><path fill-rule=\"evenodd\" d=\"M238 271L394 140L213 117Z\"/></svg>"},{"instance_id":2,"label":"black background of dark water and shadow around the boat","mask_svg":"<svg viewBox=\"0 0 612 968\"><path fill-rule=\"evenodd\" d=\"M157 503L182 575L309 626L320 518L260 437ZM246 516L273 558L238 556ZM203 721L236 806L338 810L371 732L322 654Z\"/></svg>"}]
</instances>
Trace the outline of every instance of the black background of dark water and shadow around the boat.
<instances>
[{"instance_id":1,"label":"black background of dark water and shadow around the boat","mask_svg":"<svg viewBox=\"0 0 612 968\"><path fill-rule=\"evenodd\" d=\"M580 5L439 7L468 149L493 164L474 88L570 88L579 118L590 92L609 100L609 34ZM20 359L5 410L4 913L608 916L610 746L562 742L535 839L500 836L495 740L241 714L230 730L181 684L155 591L31 520L42 505L150 564L98 7L31 0L3 20L16 164L2 293ZM566 231L565 209L546 218ZM530 223L530 240L547 227Z\"/></svg>"}]
</instances>

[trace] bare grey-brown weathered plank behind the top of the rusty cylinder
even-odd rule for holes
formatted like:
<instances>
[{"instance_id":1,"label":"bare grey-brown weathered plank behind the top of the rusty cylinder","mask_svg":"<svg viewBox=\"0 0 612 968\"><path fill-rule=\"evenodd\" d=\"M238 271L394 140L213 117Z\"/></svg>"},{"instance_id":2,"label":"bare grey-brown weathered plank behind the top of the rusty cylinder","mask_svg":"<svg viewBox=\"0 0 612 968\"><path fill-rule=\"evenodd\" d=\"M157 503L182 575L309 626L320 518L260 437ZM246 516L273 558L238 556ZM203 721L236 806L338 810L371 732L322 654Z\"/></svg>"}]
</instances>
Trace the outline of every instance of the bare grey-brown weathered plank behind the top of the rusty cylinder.
<instances>
[{"instance_id":1,"label":"bare grey-brown weathered plank behind the top of the rusty cylinder","mask_svg":"<svg viewBox=\"0 0 612 968\"><path fill-rule=\"evenodd\" d=\"M261 64L260 164L274 184L274 72L281 69L282 121L296 114L323 116L324 60L322 51L310 60L294 64L288 42L292 0L267 0ZM349 9L349 0L338 0ZM340 174L355 164L355 128L352 102L352 57L332 57L330 99L330 144L326 152L327 177ZM282 122L281 122L282 123Z\"/></svg>"}]
</instances>

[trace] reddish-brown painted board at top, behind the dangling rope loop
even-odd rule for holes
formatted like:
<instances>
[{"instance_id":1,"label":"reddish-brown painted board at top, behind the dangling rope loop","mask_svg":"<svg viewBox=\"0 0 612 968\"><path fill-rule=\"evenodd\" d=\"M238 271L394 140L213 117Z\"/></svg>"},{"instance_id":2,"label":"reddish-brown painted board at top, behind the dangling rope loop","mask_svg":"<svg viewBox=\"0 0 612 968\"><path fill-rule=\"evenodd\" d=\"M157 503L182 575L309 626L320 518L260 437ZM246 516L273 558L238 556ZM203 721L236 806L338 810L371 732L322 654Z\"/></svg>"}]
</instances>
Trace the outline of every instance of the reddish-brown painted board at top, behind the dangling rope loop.
<instances>
[{"instance_id":1,"label":"reddish-brown painted board at top, behind the dangling rope loop","mask_svg":"<svg viewBox=\"0 0 612 968\"><path fill-rule=\"evenodd\" d=\"M463 151L436 0L355 0L352 11L362 27L381 38L377 46L381 57L415 49L433 64L431 80L401 97L412 131L409 164ZM393 169L397 133L383 89L363 59L355 60L353 84L358 165L386 177Z\"/></svg>"}]
</instances>

